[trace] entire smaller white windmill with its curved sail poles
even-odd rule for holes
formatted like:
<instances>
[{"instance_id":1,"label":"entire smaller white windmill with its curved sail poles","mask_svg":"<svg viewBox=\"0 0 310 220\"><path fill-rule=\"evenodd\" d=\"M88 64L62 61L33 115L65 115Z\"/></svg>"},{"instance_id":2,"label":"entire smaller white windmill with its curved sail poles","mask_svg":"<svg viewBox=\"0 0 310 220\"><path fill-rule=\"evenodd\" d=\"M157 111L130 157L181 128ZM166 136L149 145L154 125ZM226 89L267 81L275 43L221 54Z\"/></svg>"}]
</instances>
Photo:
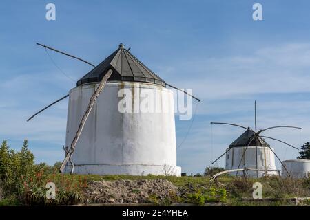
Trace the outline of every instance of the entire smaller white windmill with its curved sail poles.
<instances>
[{"instance_id":1,"label":"entire smaller white windmill with its curved sail poles","mask_svg":"<svg viewBox=\"0 0 310 220\"><path fill-rule=\"evenodd\" d=\"M276 140L282 144L287 144L282 140L278 140L273 137L268 137L261 135L262 132L269 129L278 129L278 128L293 128L293 129L302 129L296 126L271 126L266 129L261 129L257 131L256 126L256 101L255 101L255 130L252 130L250 127L241 126L239 124L230 124L222 122L211 122L211 124L225 124L231 126L238 126L242 129L245 129L245 132L240 135L234 142L232 142L229 147L226 149L225 153L220 155L212 164L214 164L218 159L226 155L225 163L225 172L230 173L231 175L244 175L247 173L249 177L262 177L264 175L278 175L280 170L276 169L275 156L282 164L282 168L288 174L288 170L276 155L275 151L271 146L265 141L265 139ZM296 148L291 144L287 144L292 148ZM298 148L296 148L298 150ZM242 172L243 171L243 172ZM289 174L288 174L289 175Z\"/></svg>"}]
</instances>

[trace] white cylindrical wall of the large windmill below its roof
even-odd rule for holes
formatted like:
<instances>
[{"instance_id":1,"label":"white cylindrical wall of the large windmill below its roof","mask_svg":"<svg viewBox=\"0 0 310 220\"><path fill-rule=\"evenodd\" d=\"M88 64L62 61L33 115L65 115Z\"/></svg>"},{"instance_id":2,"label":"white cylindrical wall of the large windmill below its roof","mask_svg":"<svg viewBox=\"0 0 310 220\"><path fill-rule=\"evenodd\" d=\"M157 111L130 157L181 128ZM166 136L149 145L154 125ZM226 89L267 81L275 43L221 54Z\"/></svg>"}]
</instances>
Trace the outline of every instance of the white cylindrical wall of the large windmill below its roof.
<instances>
[{"instance_id":1,"label":"white cylindrical wall of the large windmill below its roof","mask_svg":"<svg viewBox=\"0 0 310 220\"><path fill-rule=\"evenodd\" d=\"M98 84L70 90L66 146L70 146ZM169 107L166 113L120 113L119 89L134 87L158 91L156 106ZM132 104L134 104L134 98ZM140 98L139 102L143 102ZM107 83L85 123L72 155L74 173L180 175L176 166L176 132L172 91L149 83ZM68 163L69 164L69 163ZM70 167L67 166L65 172Z\"/></svg>"}]
</instances>

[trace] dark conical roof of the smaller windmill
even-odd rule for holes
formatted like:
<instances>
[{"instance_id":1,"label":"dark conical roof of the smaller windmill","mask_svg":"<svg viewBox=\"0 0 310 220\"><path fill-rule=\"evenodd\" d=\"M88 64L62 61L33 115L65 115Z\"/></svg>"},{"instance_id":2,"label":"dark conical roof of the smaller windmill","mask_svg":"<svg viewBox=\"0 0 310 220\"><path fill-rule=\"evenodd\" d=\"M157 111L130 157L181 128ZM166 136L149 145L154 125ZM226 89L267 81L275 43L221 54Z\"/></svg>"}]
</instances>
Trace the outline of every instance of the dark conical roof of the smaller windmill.
<instances>
[{"instance_id":1,"label":"dark conical roof of the smaller windmill","mask_svg":"<svg viewBox=\"0 0 310 220\"><path fill-rule=\"evenodd\" d=\"M238 147L238 146L247 146L249 142L251 141L251 138L255 132L251 129L247 129L240 137L238 137L234 142L232 142L229 147ZM254 140L251 141L249 146L269 146L265 140L262 139L262 137L258 136Z\"/></svg>"}]
</instances>

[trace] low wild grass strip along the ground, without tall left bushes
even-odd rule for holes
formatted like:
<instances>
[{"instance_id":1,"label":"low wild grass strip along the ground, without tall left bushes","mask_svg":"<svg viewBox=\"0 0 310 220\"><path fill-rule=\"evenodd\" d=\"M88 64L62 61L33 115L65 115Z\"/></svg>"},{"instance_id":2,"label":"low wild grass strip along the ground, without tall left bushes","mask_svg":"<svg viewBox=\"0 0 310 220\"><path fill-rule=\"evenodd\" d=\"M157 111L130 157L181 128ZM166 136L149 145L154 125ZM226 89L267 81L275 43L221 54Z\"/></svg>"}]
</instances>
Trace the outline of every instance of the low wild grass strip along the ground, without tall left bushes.
<instances>
[{"instance_id":1,"label":"low wild grass strip along the ground, without tall left bushes","mask_svg":"<svg viewBox=\"0 0 310 220\"><path fill-rule=\"evenodd\" d=\"M264 198L310 197L310 180L268 177L260 179L245 179L243 177L219 177L216 184L210 185L209 177L174 177L174 176L131 176L131 175L69 175L51 173L37 174L34 178L25 179L22 197L10 197L0 200L0 206L10 205L72 205L83 203L83 188L90 181L115 181L120 179L167 179L179 188L178 195L172 195L164 205L175 202L195 203L225 203L227 206L289 206L283 201L245 202L242 198L251 198L253 184L262 183ZM56 199L46 199L45 184L52 181L56 184ZM138 192L138 189L134 190ZM168 201L169 200L169 201ZM156 195L150 195L150 201L158 203Z\"/></svg>"}]
</instances>

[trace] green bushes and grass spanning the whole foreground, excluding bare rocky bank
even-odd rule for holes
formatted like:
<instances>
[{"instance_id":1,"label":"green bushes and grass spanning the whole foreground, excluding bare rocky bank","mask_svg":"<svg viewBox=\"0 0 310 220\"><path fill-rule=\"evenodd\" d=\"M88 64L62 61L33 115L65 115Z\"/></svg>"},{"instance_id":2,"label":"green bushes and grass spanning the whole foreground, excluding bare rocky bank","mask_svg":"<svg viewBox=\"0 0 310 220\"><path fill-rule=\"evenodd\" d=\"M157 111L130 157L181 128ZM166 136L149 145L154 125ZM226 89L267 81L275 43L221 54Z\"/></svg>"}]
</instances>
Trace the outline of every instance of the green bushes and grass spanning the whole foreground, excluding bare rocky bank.
<instances>
[{"instance_id":1,"label":"green bushes and grass spanning the whole foreground, excluding bare rocky bank","mask_svg":"<svg viewBox=\"0 0 310 220\"><path fill-rule=\"evenodd\" d=\"M13 151L6 141L0 146L0 206L29 205L71 205L85 201L85 187L90 181L115 181L120 179L167 179L178 192L170 193L167 198L150 194L149 202L168 206L172 203L194 203L198 206L222 204L225 206L284 206L295 205L285 198L310 197L310 176L304 179L264 177L249 179L224 175L210 184L209 180L221 168L208 167L205 175L194 177L174 176L130 176L130 175L69 175L59 174L60 162L54 166L34 164L34 156L25 140L20 151ZM46 183L56 185L56 199L47 199ZM263 198L283 198L276 201L246 202L242 198L251 198L254 182L262 183ZM132 192L139 194L139 188ZM111 195L113 197L113 195ZM309 200L303 202L309 205Z\"/></svg>"}]
</instances>

